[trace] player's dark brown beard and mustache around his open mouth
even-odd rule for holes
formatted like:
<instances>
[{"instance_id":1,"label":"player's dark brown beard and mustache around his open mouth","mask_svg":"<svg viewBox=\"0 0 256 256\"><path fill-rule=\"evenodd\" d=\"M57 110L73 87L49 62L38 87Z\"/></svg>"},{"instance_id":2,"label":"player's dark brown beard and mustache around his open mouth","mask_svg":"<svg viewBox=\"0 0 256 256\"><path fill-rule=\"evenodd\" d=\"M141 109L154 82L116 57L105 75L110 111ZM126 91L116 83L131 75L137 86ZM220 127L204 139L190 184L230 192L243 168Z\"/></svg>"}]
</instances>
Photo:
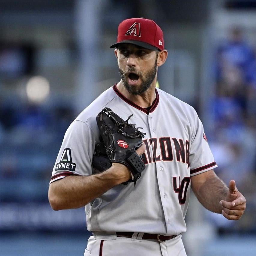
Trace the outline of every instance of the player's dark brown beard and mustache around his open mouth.
<instances>
[{"instance_id":1,"label":"player's dark brown beard and mustache around his open mouth","mask_svg":"<svg viewBox=\"0 0 256 256\"><path fill-rule=\"evenodd\" d=\"M124 85L125 89L127 90L127 92L129 92L132 95L140 95L143 92L146 92L146 90L149 89L153 80L155 79L155 75L156 75L156 72L157 72L156 63L157 63L157 58L156 58L154 67L151 70L149 70L144 75L144 77L143 77L142 72L136 71L136 69L134 67L130 67L126 71L123 71L118 67L120 76L122 77L123 85ZM126 75L129 74L129 73L135 73L140 77L141 82L142 82L140 86L130 86L128 84L128 80L127 80Z\"/></svg>"}]
</instances>

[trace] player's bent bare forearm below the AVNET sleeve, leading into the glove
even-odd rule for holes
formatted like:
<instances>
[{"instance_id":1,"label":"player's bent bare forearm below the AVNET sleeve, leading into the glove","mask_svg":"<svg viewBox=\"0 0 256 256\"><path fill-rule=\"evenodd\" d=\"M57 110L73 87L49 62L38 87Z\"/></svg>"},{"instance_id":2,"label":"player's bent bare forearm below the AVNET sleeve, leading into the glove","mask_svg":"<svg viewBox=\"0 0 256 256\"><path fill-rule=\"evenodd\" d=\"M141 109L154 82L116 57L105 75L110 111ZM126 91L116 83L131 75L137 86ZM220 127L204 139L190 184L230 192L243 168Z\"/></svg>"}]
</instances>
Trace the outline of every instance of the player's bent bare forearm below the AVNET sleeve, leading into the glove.
<instances>
[{"instance_id":1,"label":"player's bent bare forearm below the AVNET sleeve, leading into the glove","mask_svg":"<svg viewBox=\"0 0 256 256\"><path fill-rule=\"evenodd\" d=\"M50 184L48 198L54 210L73 209L85 206L110 188L120 184L120 178L113 168L126 168L119 164L90 176L68 176ZM128 178L129 179L129 178ZM128 180L127 179L127 180Z\"/></svg>"}]
</instances>

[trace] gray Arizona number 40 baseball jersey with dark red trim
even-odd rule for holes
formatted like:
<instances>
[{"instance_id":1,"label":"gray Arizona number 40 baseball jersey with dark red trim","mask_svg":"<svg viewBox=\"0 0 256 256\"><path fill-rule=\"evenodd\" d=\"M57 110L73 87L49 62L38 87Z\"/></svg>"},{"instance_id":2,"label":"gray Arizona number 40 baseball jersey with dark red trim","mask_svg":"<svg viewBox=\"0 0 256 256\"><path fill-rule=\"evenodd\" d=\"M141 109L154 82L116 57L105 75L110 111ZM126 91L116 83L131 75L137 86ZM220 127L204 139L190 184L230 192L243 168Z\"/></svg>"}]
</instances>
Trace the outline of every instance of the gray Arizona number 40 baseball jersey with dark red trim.
<instances>
[{"instance_id":1,"label":"gray Arizona number 40 baseball jersey with dark red trim","mask_svg":"<svg viewBox=\"0 0 256 256\"><path fill-rule=\"evenodd\" d=\"M141 178L117 185L85 206L87 229L177 235L186 231L190 177L217 167L194 108L161 89L149 110L122 95L116 85L103 92L65 133L50 182L91 175L99 131L97 114L111 108L146 132L146 169Z\"/></svg>"}]
</instances>

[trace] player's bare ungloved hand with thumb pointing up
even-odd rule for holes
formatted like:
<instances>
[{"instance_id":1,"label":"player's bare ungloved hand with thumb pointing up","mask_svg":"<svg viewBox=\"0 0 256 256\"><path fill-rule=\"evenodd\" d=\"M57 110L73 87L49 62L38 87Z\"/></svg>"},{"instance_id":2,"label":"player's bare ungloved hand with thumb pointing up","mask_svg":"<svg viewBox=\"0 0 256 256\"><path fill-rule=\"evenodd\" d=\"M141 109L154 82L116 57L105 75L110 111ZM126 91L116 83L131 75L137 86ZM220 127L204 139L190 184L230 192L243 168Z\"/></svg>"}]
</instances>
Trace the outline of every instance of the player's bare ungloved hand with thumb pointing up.
<instances>
[{"instance_id":1,"label":"player's bare ungloved hand with thumb pointing up","mask_svg":"<svg viewBox=\"0 0 256 256\"><path fill-rule=\"evenodd\" d=\"M237 190L233 179L230 180L228 188L226 201L220 201L222 215L228 220L239 220L245 211L245 197Z\"/></svg>"}]
</instances>

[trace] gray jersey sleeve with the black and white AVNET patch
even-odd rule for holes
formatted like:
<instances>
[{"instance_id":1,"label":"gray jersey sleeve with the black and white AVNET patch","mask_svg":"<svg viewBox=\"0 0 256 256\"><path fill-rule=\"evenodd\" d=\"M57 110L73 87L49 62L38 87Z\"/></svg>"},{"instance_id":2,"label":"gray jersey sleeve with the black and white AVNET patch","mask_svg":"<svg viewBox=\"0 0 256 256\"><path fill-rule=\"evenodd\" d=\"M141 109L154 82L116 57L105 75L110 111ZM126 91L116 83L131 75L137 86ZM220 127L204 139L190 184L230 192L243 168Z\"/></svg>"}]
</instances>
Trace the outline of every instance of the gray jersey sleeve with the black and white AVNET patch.
<instances>
[{"instance_id":1,"label":"gray jersey sleeve with the black and white AVNET patch","mask_svg":"<svg viewBox=\"0 0 256 256\"><path fill-rule=\"evenodd\" d=\"M67 129L50 183L70 175L91 175L95 140L91 128L76 120Z\"/></svg>"}]
</instances>

